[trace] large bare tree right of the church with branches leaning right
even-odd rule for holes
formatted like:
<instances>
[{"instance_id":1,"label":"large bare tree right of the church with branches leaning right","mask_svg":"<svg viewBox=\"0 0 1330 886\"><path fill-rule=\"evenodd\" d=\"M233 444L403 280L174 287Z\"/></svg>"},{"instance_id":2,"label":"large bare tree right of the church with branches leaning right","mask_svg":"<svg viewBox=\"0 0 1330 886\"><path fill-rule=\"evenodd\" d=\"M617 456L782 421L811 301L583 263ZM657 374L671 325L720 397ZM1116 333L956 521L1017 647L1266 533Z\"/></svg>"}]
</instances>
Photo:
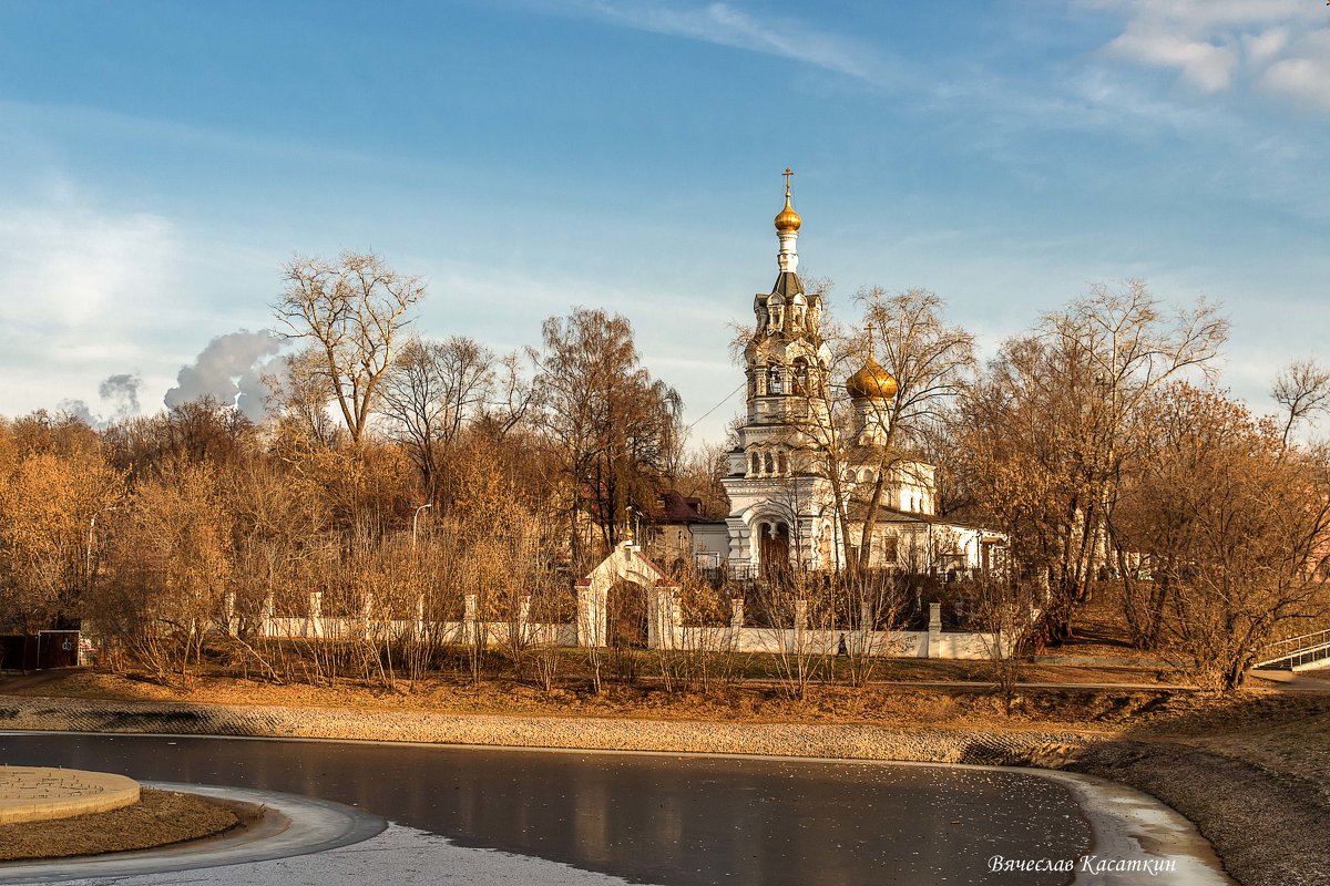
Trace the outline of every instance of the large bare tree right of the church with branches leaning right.
<instances>
[{"instance_id":1,"label":"large bare tree right of the church with branches leaning right","mask_svg":"<svg viewBox=\"0 0 1330 886\"><path fill-rule=\"evenodd\" d=\"M1051 579L1045 642L1069 635L1096 570L1121 555L1113 509L1124 465L1138 457L1142 404L1174 379L1213 373L1226 335L1205 302L1170 316L1138 280L1097 286L1008 341L967 391L958 449L976 499L1012 537L1016 566Z\"/></svg>"}]
</instances>

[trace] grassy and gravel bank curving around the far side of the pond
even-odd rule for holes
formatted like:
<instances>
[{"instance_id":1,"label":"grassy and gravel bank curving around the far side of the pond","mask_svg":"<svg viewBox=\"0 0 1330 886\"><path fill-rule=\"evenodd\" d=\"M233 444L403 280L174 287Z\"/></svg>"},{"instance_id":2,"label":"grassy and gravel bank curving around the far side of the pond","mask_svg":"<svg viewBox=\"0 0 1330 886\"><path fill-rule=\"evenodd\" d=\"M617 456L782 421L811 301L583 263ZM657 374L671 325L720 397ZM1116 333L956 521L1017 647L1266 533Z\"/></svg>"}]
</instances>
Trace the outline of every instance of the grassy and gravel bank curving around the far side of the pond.
<instances>
[{"instance_id":1,"label":"grassy and gravel bank curving around the far side of the pond","mask_svg":"<svg viewBox=\"0 0 1330 886\"><path fill-rule=\"evenodd\" d=\"M29 691L0 695L0 728L1067 768L1168 802L1248 886L1330 882L1321 693L1029 689L1007 717L966 688L827 687L798 703L759 689L690 699L633 688L555 704L503 687L408 695L231 680L182 693L80 673ZM283 703L235 703L246 697Z\"/></svg>"}]
</instances>

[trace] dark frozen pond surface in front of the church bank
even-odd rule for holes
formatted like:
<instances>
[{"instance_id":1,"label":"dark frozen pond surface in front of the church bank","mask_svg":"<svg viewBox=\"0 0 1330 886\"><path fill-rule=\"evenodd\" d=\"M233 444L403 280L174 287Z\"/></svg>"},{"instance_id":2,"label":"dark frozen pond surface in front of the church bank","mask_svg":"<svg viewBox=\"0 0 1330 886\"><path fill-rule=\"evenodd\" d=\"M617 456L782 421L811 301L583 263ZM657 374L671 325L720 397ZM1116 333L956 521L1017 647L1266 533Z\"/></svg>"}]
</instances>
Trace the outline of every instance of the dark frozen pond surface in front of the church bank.
<instances>
[{"instance_id":1,"label":"dark frozen pond surface in front of the church bank","mask_svg":"<svg viewBox=\"0 0 1330 886\"><path fill-rule=\"evenodd\" d=\"M652 883L1064 883L990 858L1091 841L1067 788L1019 770L118 735L0 735L0 762L319 797Z\"/></svg>"}]
</instances>

